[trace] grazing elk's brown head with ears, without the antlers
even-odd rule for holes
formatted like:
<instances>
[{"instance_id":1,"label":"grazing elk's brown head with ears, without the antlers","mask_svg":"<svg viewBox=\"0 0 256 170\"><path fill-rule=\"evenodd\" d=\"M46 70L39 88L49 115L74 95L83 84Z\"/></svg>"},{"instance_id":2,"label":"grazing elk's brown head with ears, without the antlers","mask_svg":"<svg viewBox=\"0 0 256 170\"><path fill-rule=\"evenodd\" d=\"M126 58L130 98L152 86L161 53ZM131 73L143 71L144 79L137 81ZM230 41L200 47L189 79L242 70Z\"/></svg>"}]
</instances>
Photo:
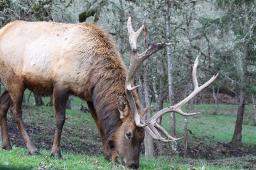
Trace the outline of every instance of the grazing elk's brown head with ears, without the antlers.
<instances>
[{"instance_id":1,"label":"grazing elk's brown head with ears, without the antlers","mask_svg":"<svg viewBox=\"0 0 256 170\"><path fill-rule=\"evenodd\" d=\"M136 93L134 93L134 96L136 96L135 99L138 99ZM140 109L139 101L136 102ZM123 166L138 168L144 129L134 124L134 118L126 97L119 97L118 111L122 123L117 127L113 137L109 138L107 143L108 152L105 154L108 157L111 156L113 162L116 162L117 157L120 157ZM145 111L140 111L141 118L145 115Z\"/></svg>"}]
</instances>

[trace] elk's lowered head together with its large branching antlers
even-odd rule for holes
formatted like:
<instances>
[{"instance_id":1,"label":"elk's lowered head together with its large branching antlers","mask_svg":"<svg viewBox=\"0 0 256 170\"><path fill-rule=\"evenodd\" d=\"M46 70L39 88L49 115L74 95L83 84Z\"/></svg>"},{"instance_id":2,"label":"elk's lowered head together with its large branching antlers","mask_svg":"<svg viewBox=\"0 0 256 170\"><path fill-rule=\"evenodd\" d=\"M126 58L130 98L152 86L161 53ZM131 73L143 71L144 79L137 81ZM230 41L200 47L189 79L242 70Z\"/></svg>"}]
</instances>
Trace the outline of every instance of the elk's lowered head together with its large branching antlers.
<instances>
[{"instance_id":1,"label":"elk's lowered head together with its large branching antlers","mask_svg":"<svg viewBox=\"0 0 256 170\"><path fill-rule=\"evenodd\" d=\"M134 32L132 29L131 17L128 18L127 28L129 32L129 43L131 45L131 63L125 80L125 94L127 101L123 97L120 97L119 99L118 110L120 112L120 119L123 121L123 123L118 128L118 131L116 131L115 139L113 141L115 143L115 151L122 159L122 164L132 168L139 167L140 145L144 138L144 131L150 134L152 138L163 142L173 142L181 139L173 138L170 134L168 134L168 132L166 132L163 127L157 124L157 118L168 112L176 112L184 116L198 114L184 113L181 110L181 107L190 99L195 97L196 94L204 90L205 87L210 85L214 80L216 80L218 76L218 74L213 76L209 81L204 83L204 85L198 87L198 82L196 79L196 67L198 65L197 57L193 66L192 73L193 83L195 86L193 92L174 106L164 108L163 110L158 111L152 118L143 120L143 117L147 111L140 109L140 106L138 106L138 102L136 101L138 97L134 97L134 94L136 93L132 92L132 90L138 87L132 87L136 70L140 66L141 62L143 62L143 60L147 59L150 55L157 52L158 50L161 50L164 48L164 46L171 45L171 43L157 43L150 45L143 53L138 53L136 41L144 27L145 26L143 25L138 31ZM161 133L165 137L162 137Z\"/></svg>"}]
</instances>

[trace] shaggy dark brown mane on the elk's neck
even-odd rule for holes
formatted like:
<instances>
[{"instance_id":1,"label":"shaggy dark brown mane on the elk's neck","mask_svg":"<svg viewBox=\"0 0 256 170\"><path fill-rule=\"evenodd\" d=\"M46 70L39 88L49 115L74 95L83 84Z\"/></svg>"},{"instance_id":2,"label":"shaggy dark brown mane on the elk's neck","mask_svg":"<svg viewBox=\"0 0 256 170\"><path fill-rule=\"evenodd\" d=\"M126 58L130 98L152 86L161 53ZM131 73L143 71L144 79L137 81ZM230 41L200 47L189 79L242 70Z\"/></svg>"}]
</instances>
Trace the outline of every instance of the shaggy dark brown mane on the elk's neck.
<instances>
[{"instance_id":1,"label":"shaggy dark brown mane on the elk's neck","mask_svg":"<svg viewBox=\"0 0 256 170\"><path fill-rule=\"evenodd\" d=\"M93 75L93 105L107 139L113 138L116 128L122 124L118 111L118 99L125 95L127 69L122 61L105 58L97 62Z\"/></svg>"}]
</instances>

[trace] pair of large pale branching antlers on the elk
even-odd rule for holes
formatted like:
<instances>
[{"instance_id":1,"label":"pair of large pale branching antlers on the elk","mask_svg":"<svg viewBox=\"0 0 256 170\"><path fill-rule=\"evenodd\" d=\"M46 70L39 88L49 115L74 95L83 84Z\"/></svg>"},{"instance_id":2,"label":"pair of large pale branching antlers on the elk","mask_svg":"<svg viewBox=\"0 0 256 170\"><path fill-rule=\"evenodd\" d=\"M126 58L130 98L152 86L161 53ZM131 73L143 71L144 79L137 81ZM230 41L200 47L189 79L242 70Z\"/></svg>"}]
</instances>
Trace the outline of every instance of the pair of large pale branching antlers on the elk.
<instances>
[{"instance_id":1,"label":"pair of large pale branching antlers on the elk","mask_svg":"<svg viewBox=\"0 0 256 170\"><path fill-rule=\"evenodd\" d=\"M171 45L172 43L157 43L154 45L150 45L147 48L147 50L139 54L136 44L137 44L138 36L140 35L140 32L143 30L144 25L142 25L138 31L134 32L134 30L132 29L131 17L129 17L127 21L127 27L129 32L129 43L131 45L131 62L130 62L129 70L128 70L126 81L125 81L125 93L126 93L128 102L130 104L132 114L134 115L135 123L137 126L143 127L145 131L148 132L148 134L150 134L150 136L152 136L152 138L154 139L157 139L163 142L177 141L181 138L173 138L170 134L168 134L168 132L166 132L163 129L163 127L157 124L156 122L157 118L161 117L164 113L168 113L168 112L176 112L184 116L191 116L191 115L198 114L198 113L184 113L181 110L181 107L184 104L186 104L189 100L193 99L193 97L195 97L196 94L204 90L205 87L209 86L214 80L216 80L218 74L216 76L212 76L212 78L206 83L204 83L204 85L201 85L200 87L198 87L198 81L196 79L196 68L198 66L198 57L196 57L195 64L193 66L193 73L192 73L193 83L195 87L193 92L188 97L180 101L179 103L175 104L174 106L170 106L168 108L164 108L163 110L158 111L156 115L154 115L153 117L149 118L144 122L138 113L136 103L132 96L132 90L138 87L138 86L132 87L136 70L140 66L141 62L147 59L150 55L157 52L158 50L161 50L164 46ZM159 132L162 132L166 138L163 138Z\"/></svg>"}]
</instances>

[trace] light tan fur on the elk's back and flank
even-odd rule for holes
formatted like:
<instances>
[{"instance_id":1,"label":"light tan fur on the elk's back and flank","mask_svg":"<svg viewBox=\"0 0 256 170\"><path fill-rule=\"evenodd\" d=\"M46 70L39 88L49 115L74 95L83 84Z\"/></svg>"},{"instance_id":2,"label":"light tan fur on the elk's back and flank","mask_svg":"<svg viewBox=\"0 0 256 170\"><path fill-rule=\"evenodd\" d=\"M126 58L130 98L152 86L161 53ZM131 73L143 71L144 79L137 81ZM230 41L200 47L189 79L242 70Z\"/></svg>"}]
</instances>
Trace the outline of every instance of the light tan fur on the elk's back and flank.
<instances>
[{"instance_id":1,"label":"light tan fur on the elk's back and flank","mask_svg":"<svg viewBox=\"0 0 256 170\"><path fill-rule=\"evenodd\" d=\"M37 89L38 84L49 89L56 81L91 101L86 82L95 56L104 53L95 48L100 46L95 38L100 31L104 32L87 23L12 22L0 32L0 67L5 69L1 80L11 90L7 82L14 81L13 75L4 74L19 75L39 93L47 90Z\"/></svg>"}]
</instances>

